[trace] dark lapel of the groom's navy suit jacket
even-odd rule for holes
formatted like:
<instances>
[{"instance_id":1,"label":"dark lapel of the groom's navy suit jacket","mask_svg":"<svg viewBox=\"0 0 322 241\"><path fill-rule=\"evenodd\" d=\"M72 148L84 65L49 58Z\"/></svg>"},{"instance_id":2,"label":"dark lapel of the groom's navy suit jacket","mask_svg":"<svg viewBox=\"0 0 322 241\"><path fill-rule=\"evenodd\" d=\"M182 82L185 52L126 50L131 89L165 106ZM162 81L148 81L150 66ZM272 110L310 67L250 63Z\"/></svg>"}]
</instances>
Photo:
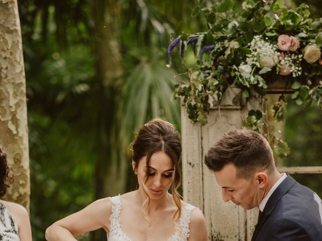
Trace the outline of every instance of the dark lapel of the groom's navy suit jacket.
<instances>
[{"instance_id":1,"label":"dark lapel of the groom's navy suit jacket","mask_svg":"<svg viewBox=\"0 0 322 241\"><path fill-rule=\"evenodd\" d=\"M296 181L291 176L287 175L287 177L281 182L281 184L272 193L263 210L264 215L262 215L262 217L260 218L259 222L256 225L254 234L252 236L252 241L256 240L258 232L261 230L263 224L270 216L271 212L275 208L278 201L282 198L282 196L285 195L285 193L288 192L288 190L291 189L291 187L294 186L295 183Z\"/></svg>"}]
</instances>

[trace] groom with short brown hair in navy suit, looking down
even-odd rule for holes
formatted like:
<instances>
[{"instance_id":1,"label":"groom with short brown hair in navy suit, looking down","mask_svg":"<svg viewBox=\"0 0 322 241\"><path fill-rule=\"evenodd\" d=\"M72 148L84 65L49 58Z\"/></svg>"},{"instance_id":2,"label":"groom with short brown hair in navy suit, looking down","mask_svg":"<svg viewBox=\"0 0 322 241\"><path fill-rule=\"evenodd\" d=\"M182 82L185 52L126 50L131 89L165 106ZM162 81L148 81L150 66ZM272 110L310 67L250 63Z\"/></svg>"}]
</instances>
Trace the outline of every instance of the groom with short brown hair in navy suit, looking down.
<instances>
[{"instance_id":1,"label":"groom with short brown hair in navy suit, looking down","mask_svg":"<svg viewBox=\"0 0 322 241\"><path fill-rule=\"evenodd\" d=\"M259 206L252 241L322 240L322 201L309 188L276 170L267 140L251 130L235 130L209 149L225 202L244 209Z\"/></svg>"}]
</instances>

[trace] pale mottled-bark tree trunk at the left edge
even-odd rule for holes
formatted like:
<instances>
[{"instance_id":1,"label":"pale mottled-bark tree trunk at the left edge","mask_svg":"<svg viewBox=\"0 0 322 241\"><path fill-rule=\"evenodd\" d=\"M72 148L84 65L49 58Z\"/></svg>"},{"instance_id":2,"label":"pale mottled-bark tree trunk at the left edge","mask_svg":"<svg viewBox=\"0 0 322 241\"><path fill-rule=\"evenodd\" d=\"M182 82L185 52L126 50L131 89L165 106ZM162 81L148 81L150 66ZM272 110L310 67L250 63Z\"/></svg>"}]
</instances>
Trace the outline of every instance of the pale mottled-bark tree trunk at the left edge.
<instances>
[{"instance_id":1,"label":"pale mottled-bark tree trunk at the left edge","mask_svg":"<svg viewBox=\"0 0 322 241\"><path fill-rule=\"evenodd\" d=\"M17 0L0 0L0 142L14 173L5 199L29 209L26 79Z\"/></svg>"}]
</instances>

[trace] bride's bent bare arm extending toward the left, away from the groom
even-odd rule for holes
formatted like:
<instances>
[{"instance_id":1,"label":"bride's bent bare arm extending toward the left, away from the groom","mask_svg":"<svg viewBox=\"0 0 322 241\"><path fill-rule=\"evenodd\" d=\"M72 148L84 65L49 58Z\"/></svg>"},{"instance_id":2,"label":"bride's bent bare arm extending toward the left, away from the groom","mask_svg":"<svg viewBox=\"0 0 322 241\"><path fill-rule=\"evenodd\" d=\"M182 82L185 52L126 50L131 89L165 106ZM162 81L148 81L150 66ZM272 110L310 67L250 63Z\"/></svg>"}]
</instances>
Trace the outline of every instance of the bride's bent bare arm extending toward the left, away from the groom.
<instances>
[{"instance_id":1,"label":"bride's bent bare arm extending toward the left, away from the groom","mask_svg":"<svg viewBox=\"0 0 322 241\"><path fill-rule=\"evenodd\" d=\"M76 240L81 233L104 228L109 232L112 204L108 198L100 199L81 211L73 213L50 225L46 230L48 241Z\"/></svg>"}]
</instances>

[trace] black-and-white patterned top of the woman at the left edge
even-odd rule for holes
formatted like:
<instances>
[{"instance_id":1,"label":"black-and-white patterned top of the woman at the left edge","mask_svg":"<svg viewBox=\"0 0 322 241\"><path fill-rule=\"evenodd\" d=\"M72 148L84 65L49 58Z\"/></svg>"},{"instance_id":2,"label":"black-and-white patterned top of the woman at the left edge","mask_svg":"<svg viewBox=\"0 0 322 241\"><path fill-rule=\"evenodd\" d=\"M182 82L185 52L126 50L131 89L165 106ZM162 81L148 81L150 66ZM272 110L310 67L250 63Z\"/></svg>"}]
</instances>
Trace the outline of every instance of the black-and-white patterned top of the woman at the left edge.
<instances>
[{"instance_id":1,"label":"black-and-white patterned top of the woman at the left edge","mask_svg":"<svg viewBox=\"0 0 322 241\"><path fill-rule=\"evenodd\" d=\"M20 240L18 226L2 202L0 202L0 240Z\"/></svg>"}]
</instances>

